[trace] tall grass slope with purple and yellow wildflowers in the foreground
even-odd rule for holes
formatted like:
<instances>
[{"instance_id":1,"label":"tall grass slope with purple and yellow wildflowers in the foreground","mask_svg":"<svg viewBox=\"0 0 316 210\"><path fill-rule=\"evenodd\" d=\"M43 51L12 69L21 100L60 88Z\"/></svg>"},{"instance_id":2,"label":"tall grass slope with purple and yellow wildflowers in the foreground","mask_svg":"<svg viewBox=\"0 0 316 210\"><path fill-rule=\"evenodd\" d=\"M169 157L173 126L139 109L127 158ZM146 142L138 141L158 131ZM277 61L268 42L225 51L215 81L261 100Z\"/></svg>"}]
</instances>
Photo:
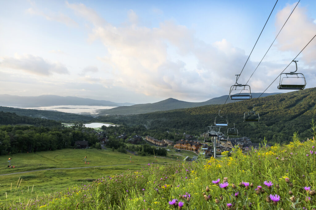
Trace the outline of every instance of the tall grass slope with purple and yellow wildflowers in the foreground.
<instances>
[{"instance_id":1,"label":"tall grass slope with purple and yellow wildflowers in the foreground","mask_svg":"<svg viewBox=\"0 0 316 210\"><path fill-rule=\"evenodd\" d=\"M197 162L152 163L89 185L2 203L2 208L313 209L315 146L313 139L301 142L294 133L288 145L263 145L246 153L234 148L220 160L199 156Z\"/></svg>"}]
</instances>

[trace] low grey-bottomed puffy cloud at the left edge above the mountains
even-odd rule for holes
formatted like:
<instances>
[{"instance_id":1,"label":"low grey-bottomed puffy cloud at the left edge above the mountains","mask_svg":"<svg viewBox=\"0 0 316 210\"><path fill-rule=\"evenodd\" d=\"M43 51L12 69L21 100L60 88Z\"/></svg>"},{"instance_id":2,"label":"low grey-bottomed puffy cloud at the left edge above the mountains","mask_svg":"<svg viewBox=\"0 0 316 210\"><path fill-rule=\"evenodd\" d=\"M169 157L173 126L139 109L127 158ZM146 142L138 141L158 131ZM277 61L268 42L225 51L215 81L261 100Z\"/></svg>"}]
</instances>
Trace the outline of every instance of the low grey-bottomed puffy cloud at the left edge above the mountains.
<instances>
[{"instance_id":1,"label":"low grey-bottomed puffy cloud at the left edge above the mountains","mask_svg":"<svg viewBox=\"0 0 316 210\"><path fill-rule=\"evenodd\" d=\"M42 57L34 55L18 55L15 57L4 57L0 63L1 67L23 70L31 74L48 76L52 73L68 74L67 68L58 63L44 60Z\"/></svg>"}]
</instances>

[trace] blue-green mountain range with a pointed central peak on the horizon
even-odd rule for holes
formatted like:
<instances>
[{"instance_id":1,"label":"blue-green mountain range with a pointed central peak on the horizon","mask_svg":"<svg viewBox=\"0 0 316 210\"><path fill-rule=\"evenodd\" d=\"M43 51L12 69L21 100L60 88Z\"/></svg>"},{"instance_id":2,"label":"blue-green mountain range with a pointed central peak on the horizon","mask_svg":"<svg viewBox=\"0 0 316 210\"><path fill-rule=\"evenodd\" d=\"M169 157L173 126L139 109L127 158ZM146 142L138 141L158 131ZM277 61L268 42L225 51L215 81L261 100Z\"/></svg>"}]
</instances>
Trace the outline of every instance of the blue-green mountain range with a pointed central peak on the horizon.
<instances>
[{"instance_id":1,"label":"blue-green mountain range with a pointed central peak on the horizon","mask_svg":"<svg viewBox=\"0 0 316 210\"><path fill-rule=\"evenodd\" d=\"M252 98L258 98L261 93L252 93ZM275 95L279 93L264 93L261 97ZM224 104L228 95L213 98L204 102L186 102L177 99L169 98L152 104L136 104L132 106L119 106L112 109L99 110L101 115L130 115L130 114L144 114L154 111L167 111L173 109L192 108L211 104ZM240 100L231 100L228 98L226 103L232 103Z\"/></svg>"}]
</instances>

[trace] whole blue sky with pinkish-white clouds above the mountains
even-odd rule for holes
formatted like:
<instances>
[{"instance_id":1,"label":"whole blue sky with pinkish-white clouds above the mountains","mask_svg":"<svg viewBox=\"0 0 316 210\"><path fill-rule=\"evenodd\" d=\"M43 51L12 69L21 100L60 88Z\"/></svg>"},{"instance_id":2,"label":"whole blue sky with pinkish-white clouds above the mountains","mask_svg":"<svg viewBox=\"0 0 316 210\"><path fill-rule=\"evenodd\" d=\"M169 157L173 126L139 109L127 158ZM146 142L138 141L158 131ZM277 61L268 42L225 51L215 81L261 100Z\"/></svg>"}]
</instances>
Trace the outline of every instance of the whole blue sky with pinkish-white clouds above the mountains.
<instances>
[{"instance_id":1,"label":"whole blue sky with pinkish-white clouds above the mountains","mask_svg":"<svg viewBox=\"0 0 316 210\"><path fill-rule=\"evenodd\" d=\"M0 0L0 94L153 103L229 94L276 1ZM276 3L245 84L297 1ZM247 83L263 92L316 34L302 0ZM296 60L315 87L316 38ZM295 64L285 72L294 71ZM266 92L277 89L279 79Z\"/></svg>"}]
</instances>

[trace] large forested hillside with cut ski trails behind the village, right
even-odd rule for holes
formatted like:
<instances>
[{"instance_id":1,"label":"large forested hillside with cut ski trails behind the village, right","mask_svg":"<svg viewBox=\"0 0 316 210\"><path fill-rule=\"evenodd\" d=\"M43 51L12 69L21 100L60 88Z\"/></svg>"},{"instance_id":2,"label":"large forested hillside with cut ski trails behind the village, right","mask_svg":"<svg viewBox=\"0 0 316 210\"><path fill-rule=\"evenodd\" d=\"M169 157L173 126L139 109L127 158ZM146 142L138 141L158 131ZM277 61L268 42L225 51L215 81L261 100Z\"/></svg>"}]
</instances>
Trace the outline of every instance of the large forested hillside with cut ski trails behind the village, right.
<instances>
[{"instance_id":1,"label":"large forested hillside with cut ski trails behind the village, right","mask_svg":"<svg viewBox=\"0 0 316 210\"><path fill-rule=\"evenodd\" d=\"M250 137L254 142L264 137L270 142L288 142L296 131L302 138L311 136L310 123L313 118L316 120L316 88L259 98L255 110L260 114L260 122L243 122L244 112L252 111L255 100L244 100L225 106L206 105L139 115L100 116L99 121L127 126L143 125L149 130L160 132L179 130L199 134L206 132L207 126L214 125L214 118L221 109L221 115L228 117L228 128L236 123L239 135Z\"/></svg>"}]
</instances>

